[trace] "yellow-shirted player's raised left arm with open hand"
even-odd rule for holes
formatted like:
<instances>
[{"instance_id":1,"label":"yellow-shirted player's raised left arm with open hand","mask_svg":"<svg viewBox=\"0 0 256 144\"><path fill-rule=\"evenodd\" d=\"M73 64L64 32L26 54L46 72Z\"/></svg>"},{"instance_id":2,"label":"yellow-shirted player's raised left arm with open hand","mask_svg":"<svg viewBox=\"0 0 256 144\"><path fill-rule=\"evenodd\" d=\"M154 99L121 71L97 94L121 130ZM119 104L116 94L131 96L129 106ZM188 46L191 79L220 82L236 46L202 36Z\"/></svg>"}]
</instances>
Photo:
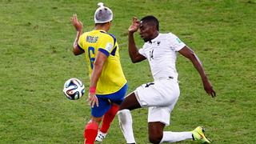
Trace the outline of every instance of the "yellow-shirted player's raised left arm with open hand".
<instances>
[{"instance_id":1,"label":"yellow-shirted player's raised left arm with open hand","mask_svg":"<svg viewBox=\"0 0 256 144\"><path fill-rule=\"evenodd\" d=\"M78 40L80 38L80 35L82 34L82 22L78 21L77 14L74 14L73 17L71 17L70 21L74 26L75 30L77 30L77 36L74 39L74 44L73 44L73 53L74 55L82 54L84 53L84 51L78 48Z\"/></svg>"}]
</instances>

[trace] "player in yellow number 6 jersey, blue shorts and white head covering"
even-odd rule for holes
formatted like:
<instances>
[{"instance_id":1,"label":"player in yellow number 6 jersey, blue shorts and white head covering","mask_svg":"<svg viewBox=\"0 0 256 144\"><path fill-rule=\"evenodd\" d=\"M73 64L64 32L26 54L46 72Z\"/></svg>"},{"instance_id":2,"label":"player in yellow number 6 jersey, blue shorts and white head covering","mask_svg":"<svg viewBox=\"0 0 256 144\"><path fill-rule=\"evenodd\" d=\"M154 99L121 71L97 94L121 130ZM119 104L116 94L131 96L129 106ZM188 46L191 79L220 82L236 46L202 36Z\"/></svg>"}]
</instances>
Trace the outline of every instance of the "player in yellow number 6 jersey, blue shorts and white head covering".
<instances>
[{"instance_id":1,"label":"player in yellow number 6 jersey, blue shorts and white head covering","mask_svg":"<svg viewBox=\"0 0 256 144\"><path fill-rule=\"evenodd\" d=\"M76 14L71 18L77 30L74 40L74 55L85 54L90 71L89 102L91 118L84 131L85 143L102 141L110 123L118 112L127 90L127 81L122 72L118 42L114 35L107 33L113 19L112 11L98 3L94 14L94 30L82 34L82 22ZM103 117L104 116L104 117ZM102 121L98 131L98 125ZM97 136L98 134L98 136Z\"/></svg>"}]
</instances>

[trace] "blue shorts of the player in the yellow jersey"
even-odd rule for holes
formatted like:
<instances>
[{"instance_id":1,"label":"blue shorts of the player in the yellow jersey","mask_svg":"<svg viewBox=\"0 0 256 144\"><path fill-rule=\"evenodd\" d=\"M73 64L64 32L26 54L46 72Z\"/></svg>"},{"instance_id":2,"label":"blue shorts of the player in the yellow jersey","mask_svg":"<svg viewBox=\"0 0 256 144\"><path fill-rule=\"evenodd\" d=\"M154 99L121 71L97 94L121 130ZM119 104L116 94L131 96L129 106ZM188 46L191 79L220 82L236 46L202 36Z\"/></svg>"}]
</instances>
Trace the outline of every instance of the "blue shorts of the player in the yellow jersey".
<instances>
[{"instance_id":1,"label":"blue shorts of the player in the yellow jersey","mask_svg":"<svg viewBox=\"0 0 256 144\"><path fill-rule=\"evenodd\" d=\"M96 94L98 98L98 106L91 108L91 115L99 118L102 117L108 110L110 110L111 103L120 105L125 98L128 84L122 86L120 90L113 94Z\"/></svg>"}]
</instances>

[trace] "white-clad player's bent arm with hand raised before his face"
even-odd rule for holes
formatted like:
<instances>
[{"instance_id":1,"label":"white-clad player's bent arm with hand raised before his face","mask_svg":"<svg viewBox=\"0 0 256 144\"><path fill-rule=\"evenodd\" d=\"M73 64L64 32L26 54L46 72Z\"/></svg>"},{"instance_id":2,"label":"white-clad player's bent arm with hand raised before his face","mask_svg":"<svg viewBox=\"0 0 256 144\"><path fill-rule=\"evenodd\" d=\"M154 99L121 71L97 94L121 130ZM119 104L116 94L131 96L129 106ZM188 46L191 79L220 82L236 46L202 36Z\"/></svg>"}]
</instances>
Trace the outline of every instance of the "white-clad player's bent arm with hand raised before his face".
<instances>
[{"instance_id":1,"label":"white-clad player's bent arm with hand raised before his face","mask_svg":"<svg viewBox=\"0 0 256 144\"><path fill-rule=\"evenodd\" d=\"M134 41L134 32L138 30L139 21L138 18L133 18L132 25L128 29L128 50L130 55L130 60L133 63L141 62L145 60L146 58L138 53L138 48L136 47L135 41Z\"/></svg>"}]
</instances>

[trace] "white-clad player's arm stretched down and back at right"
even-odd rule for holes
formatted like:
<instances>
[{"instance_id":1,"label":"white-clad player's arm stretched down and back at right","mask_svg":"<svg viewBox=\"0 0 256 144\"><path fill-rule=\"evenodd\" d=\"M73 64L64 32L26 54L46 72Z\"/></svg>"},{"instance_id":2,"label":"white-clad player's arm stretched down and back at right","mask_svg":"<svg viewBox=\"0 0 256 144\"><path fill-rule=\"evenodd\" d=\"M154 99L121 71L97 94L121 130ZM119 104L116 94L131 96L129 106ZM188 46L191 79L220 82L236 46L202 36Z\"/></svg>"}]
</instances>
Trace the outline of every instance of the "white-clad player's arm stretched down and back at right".
<instances>
[{"instance_id":1,"label":"white-clad player's arm stretched down and back at right","mask_svg":"<svg viewBox=\"0 0 256 144\"><path fill-rule=\"evenodd\" d=\"M184 57L190 59L190 61L193 63L194 67L198 70L198 73L200 74L202 78L202 83L204 86L204 89L206 90L207 94L210 94L211 97L215 97L215 91L213 89L213 86L211 86L205 71L203 70L202 63L200 62L199 58L196 54L194 54L194 51L191 50L189 47L184 46L182 50L178 51L180 54L182 54Z\"/></svg>"}]
</instances>

